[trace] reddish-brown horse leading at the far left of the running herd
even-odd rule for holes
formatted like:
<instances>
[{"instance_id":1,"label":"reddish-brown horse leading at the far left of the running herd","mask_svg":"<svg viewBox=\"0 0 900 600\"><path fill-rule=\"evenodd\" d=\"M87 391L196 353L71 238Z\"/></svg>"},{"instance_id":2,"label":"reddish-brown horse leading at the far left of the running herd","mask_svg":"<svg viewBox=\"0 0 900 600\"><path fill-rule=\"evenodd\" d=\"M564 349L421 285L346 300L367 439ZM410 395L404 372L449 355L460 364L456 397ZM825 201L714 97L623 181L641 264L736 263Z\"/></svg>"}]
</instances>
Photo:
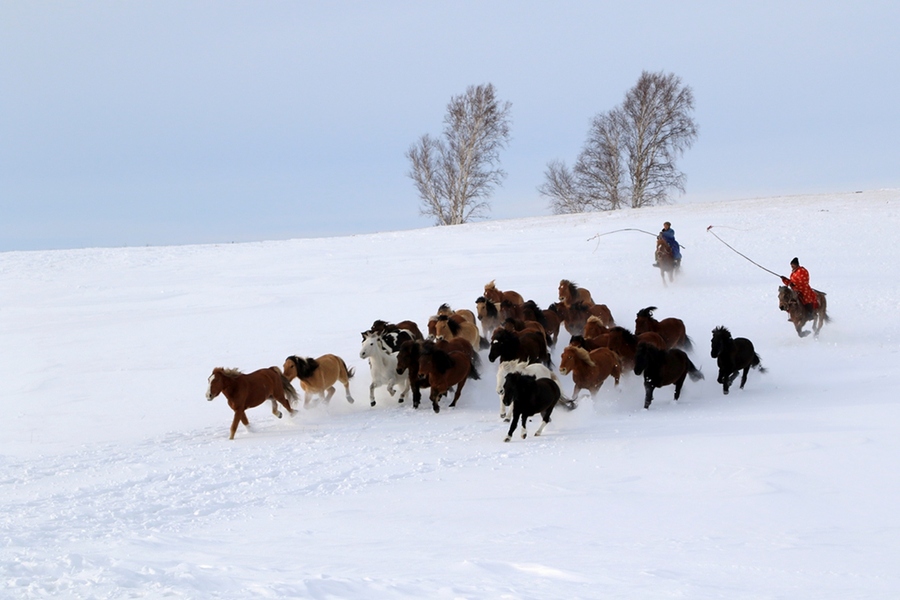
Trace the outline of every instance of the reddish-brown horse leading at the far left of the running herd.
<instances>
[{"instance_id":1,"label":"reddish-brown horse leading at the far left of the running herd","mask_svg":"<svg viewBox=\"0 0 900 600\"><path fill-rule=\"evenodd\" d=\"M223 394L228 400L228 406L234 411L234 420L231 422L231 435L233 440L238 423L250 429L247 421L246 410L259 406L266 400L272 400L272 414L281 418L277 402L291 414L294 409L291 401L297 399L297 391L291 382L281 374L278 367L259 369L252 373L244 374L237 369L223 369L216 367L209 376L209 387L206 389L206 399L212 400L219 394Z\"/></svg>"}]
</instances>

